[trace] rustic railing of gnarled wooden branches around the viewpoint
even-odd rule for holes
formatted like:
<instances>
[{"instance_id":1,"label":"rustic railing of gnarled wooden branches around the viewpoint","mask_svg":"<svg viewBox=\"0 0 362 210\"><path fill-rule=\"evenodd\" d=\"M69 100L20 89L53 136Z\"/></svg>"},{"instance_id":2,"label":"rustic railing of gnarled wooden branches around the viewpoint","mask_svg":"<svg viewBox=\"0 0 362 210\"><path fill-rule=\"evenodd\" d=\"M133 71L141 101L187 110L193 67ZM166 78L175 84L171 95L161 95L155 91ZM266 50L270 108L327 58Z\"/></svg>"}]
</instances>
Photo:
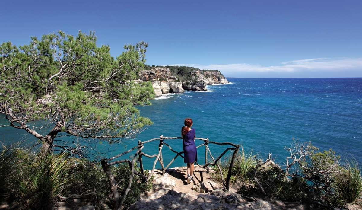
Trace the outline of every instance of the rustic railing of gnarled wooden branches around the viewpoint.
<instances>
[{"instance_id":1,"label":"rustic railing of gnarled wooden branches around the viewpoint","mask_svg":"<svg viewBox=\"0 0 362 210\"><path fill-rule=\"evenodd\" d=\"M108 180L109 180L109 184L111 186L111 190L112 190L112 194L113 194L113 204L114 204L113 206L114 206L114 209L117 209L117 210L122 209L123 202L125 201L127 193L129 192L129 190L131 188L131 184L132 184L132 180L133 180L134 175L137 175L137 176L141 177L143 182L147 182L148 180L151 179L151 177L153 175L153 172L155 171L157 161L160 162L161 169L162 169L162 175L164 175L166 169L173 163L173 161L178 156L181 156L182 158L184 158L184 156L182 155L184 153L183 151L177 152L177 151L173 150L172 147L168 143L165 142L165 140L171 140L171 139L182 139L182 137L164 137L164 136L161 135L160 138L154 138L154 139L150 139L150 140L147 140L147 141L144 141L144 142L138 141L138 145L131 148L130 150L127 150L127 151L125 151L125 152L123 152L123 153L121 153L119 155L113 156L111 158L101 160L103 171L107 175ZM149 143L149 142L153 142L155 140L160 141L159 146L158 146L159 147L158 154L148 155L148 154L142 152L142 149L144 148L144 144ZM231 178L231 175L232 175L232 168L233 168L233 165L234 165L234 162L235 162L236 154L239 151L240 145L229 143L229 142L224 142L224 143L213 142L213 141L209 141L209 138L206 138L206 139L204 139L204 138L195 138L195 140L203 141L203 143L198 145L196 148L205 146L205 165L199 165L198 163L197 163L197 165L199 167L206 168L207 172L209 172L209 165L212 165L212 166L216 165L216 167L219 170L220 176L221 176L221 180L222 180L222 183L223 183L224 190L229 190L230 189L230 178ZM229 145L231 147L224 150L222 152L222 154L219 155L218 158L215 159L214 156L212 156L212 154L211 154L211 151L210 151L210 148L209 148L208 144ZM174 156L174 158L166 165L166 167L164 167L164 162L163 162L163 158L162 158L162 148L163 148L163 146L168 147L172 152L174 152L176 154L176 156ZM115 160L115 159L117 159L117 158L119 158L119 157L133 151L133 150L136 150L136 153L134 154L133 158L124 159L124 160ZM231 161L230 161L230 165L229 165L229 168L228 168L228 173L227 173L226 179L224 179L222 169L221 169L220 165L218 164L218 161L229 150L233 150L234 152L233 152L232 157L231 157ZM146 173L144 172L142 156L145 156L147 158L156 158L155 161L153 162L152 170L148 174L148 176L146 176ZM208 156L210 156L210 158L212 160L212 163L207 160ZM114 160L114 161L112 161L112 160ZM140 172L135 170L135 163L136 162L139 162ZM130 169L131 169L131 175L130 175L129 183L128 183L128 186L127 186L125 192L123 193L123 196L122 196L121 200L119 200L119 194L118 194L118 190L117 190L118 186L117 186L117 184L115 182L114 176L113 176L113 174L111 172L111 169L110 169L111 165L115 165L115 164L119 164L119 163L129 163Z\"/></svg>"}]
</instances>

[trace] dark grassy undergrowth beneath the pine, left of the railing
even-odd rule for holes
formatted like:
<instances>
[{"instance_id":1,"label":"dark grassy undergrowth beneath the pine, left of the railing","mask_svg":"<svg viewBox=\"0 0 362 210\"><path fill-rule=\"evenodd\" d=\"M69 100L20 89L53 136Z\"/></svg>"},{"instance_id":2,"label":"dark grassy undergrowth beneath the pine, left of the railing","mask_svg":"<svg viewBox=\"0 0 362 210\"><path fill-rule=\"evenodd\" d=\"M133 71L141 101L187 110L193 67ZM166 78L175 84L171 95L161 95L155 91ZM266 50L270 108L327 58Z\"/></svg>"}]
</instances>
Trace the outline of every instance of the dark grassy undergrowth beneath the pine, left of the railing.
<instances>
[{"instance_id":1,"label":"dark grassy undergrowth beneath the pine, left of the railing","mask_svg":"<svg viewBox=\"0 0 362 210\"><path fill-rule=\"evenodd\" d=\"M86 195L96 209L102 203L111 206L113 198L107 176L100 164L72 158L68 153L57 155L33 154L21 149L0 151L1 200L15 202L20 209L51 209L59 196ZM128 164L111 168L122 196L131 170ZM136 167L136 171L140 169ZM146 171L147 175L147 171ZM152 179L143 183L134 176L124 208L137 201L141 193L151 189Z\"/></svg>"}]
</instances>

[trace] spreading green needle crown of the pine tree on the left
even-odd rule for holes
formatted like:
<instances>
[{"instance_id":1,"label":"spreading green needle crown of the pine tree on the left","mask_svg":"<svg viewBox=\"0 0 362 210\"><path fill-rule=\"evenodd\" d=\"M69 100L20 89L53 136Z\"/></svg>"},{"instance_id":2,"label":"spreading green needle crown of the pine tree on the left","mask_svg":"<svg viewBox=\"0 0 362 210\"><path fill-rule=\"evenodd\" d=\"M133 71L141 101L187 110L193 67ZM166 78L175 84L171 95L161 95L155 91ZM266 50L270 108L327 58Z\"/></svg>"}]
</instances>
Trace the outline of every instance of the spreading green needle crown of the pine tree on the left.
<instances>
[{"instance_id":1,"label":"spreading green needle crown of the pine tree on the left","mask_svg":"<svg viewBox=\"0 0 362 210\"><path fill-rule=\"evenodd\" d=\"M31 37L29 45L2 43L0 112L9 125L50 147L59 132L113 142L151 125L135 106L150 104L152 84L132 81L144 68L147 43L125 45L113 58L110 47L98 47L96 40L94 32L73 36L59 31ZM38 120L54 123L50 140L26 126Z\"/></svg>"}]
</instances>

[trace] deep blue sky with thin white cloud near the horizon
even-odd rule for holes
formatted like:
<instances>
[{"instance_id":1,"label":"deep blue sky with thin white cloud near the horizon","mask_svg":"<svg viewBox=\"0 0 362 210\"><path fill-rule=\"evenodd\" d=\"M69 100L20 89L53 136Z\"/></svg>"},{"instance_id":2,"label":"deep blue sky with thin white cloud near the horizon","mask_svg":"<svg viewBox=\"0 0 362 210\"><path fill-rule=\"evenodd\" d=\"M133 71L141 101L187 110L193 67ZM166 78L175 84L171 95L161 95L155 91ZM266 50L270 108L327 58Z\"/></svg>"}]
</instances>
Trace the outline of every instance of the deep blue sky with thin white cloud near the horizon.
<instances>
[{"instance_id":1,"label":"deep blue sky with thin white cloud near the horizon","mask_svg":"<svg viewBox=\"0 0 362 210\"><path fill-rule=\"evenodd\" d=\"M362 1L3 1L0 42L94 30L111 54L228 77L362 77Z\"/></svg>"}]
</instances>

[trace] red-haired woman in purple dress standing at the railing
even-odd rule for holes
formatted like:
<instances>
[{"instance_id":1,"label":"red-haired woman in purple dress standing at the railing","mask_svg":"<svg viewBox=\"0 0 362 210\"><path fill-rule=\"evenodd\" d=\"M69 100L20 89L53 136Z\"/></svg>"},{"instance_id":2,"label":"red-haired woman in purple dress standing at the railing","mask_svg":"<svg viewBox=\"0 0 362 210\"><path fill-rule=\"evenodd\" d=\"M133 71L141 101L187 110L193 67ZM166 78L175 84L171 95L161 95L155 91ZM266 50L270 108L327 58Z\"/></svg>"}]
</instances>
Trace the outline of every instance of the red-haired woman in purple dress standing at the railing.
<instances>
[{"instance_id":1,"label":"red-haired woman in purple dress standing at the railing","mask_svg":"<svg viewBox=\"0 0 362 210\"><path fill-rule=\"evenodd\" d=\"M195 146L195 129L191 128L192 119L185 119L185 126L181 129L182 142L184 143L184 163L187 163L187 183L192 181L194 173L194 162L197 161L197 150Z\"/></svg>"}]
</instances>

